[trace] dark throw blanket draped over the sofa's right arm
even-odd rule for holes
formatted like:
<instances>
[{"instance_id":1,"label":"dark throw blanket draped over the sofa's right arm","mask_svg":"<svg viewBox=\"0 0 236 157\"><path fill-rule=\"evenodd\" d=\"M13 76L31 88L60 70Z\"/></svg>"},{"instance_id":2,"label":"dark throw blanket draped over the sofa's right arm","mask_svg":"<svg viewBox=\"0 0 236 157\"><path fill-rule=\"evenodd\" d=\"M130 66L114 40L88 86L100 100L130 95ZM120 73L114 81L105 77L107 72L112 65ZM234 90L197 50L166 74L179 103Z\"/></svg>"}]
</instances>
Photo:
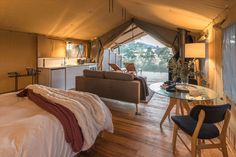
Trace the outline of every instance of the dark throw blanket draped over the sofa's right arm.
<instances>
[{"instance_id":1,"label":"dark throw blanket draped over the sofa's right arm","mask_svg":"<svg viewBox=\"0 0 236 157\"><path fill-rule=\"evenodd\" d=\"M140 82L140 99L141 100L146 100L146 97L149 95L149 91L148 91L148 85L146 82L146 79L144 77L141 76L135 76L134 77L135 80L138 80Z\"/></svg>"}]
</instances>

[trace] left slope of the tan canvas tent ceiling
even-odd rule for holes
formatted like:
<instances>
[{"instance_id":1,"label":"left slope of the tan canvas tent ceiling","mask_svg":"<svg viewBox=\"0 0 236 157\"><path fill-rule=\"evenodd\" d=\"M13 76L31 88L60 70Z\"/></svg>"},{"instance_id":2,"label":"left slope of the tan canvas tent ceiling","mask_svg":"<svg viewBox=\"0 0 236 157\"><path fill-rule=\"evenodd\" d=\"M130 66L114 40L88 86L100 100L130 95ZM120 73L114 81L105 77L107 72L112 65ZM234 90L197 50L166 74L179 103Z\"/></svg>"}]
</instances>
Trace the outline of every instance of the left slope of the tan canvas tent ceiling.
<instances>
[{"instance_id":1,"label":"left slope of the tan canvas tent ceiling","mask_svg":"<svg viewBox=\"0 0 236 157\"><path fill-rule=\"evenodd\" d=\"M0 28L89 40L124 22L120 5L114 1L112 13L108 6L108 0L1 0Z\"/></svg>"}]
</instances>

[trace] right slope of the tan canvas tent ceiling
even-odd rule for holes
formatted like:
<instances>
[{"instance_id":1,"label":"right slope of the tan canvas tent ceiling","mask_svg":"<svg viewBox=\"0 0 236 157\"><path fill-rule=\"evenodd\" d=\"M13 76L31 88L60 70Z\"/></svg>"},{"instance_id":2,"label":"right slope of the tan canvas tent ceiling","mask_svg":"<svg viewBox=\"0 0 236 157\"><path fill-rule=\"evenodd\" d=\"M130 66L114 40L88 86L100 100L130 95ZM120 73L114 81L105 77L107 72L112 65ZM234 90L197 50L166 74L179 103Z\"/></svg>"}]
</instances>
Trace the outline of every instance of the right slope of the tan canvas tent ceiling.
<instances>
[{"instance_id":1,"label":"right slope of the tan canvas tent ceiling","mask_svg":"<svg viewBox=\"0 0 236 157\"><path fill-rule=\"evenodd\" d=\"M168 28L203 30L234 0L119 0L136 18Z\"/></svg>"}]
</instances>

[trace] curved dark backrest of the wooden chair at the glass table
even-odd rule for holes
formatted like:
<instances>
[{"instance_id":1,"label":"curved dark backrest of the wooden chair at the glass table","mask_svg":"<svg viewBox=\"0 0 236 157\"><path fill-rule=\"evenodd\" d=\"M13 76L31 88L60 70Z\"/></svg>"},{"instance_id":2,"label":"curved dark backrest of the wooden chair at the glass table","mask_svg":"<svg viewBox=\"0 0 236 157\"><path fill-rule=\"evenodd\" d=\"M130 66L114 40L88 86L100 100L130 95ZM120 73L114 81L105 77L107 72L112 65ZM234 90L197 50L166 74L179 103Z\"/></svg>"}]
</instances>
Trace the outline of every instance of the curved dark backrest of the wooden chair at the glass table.
<instances>
[{"instance_id":1,"label":"curved dark backrest of the wooden chair at the glass table","mask_svg":"<svg viewBox=\"0 0 236 157\"><path fill-rule=\"evenodd\" d=\"M204 110L205 119L203 123L219 123L224 120L226 111L230 109L230 104L216 106L197 105L190 111L190 116L197 121L200 111Z\"/></svg>"}]
</instances>

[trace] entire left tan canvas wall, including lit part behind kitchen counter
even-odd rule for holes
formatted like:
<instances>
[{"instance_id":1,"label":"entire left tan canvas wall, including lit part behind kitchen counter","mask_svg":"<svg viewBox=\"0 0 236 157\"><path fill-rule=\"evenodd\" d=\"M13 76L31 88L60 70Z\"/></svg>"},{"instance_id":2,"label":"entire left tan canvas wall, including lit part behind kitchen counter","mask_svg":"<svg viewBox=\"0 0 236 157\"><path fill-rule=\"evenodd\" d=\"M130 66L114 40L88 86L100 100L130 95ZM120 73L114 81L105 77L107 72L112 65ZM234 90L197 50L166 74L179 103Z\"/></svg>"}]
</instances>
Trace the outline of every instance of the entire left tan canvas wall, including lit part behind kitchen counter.
<instances>
[{"instance_id":1,"label":"entire left tan canvas wall, including lit part behind kitchen counter","mask_svg":"<svg viewBox=\"0 0 236 157\"><path fill-rule=\"evenodd\" d=\"M32 33L0 30L0 93L15 89L8 72L26 73L26 67L37 66L37 57L66 57L66 41ZM70 39L85 45L85 56L89 57L89 42ZM19 89L31 83L31 77L19 78Z\"/></svg>"}]
</instances>

